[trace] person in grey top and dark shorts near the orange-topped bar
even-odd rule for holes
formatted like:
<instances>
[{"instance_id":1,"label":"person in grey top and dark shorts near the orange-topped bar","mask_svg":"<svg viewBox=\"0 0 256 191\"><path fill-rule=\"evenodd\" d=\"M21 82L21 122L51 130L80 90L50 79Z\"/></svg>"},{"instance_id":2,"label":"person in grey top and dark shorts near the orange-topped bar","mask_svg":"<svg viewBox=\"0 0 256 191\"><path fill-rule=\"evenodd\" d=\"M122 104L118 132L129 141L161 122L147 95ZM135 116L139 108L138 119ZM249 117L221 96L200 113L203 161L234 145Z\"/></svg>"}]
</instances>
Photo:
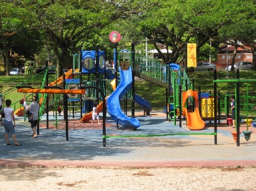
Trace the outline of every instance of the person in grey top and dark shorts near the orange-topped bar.
<instances>
[{"instance_id":1,"label":"person in grey top and dark shorts near the orange-topped bar","mask_svg":"<svg viewBox=\"0 0 256 191\"><path fill-rule=\"evenodd\" d=\"M31 112L33 113L33 118L31 120L31 128L33 130L33 133L31 136L33 137L38 137L37 133L36 133L36 127L38 124L38 113L39 113L39 104L37 102L38 100L38 96L33 96L33 101L32 103L30 103L29 108L26 109L26 113L31 110Z\"/></svg>"}]
</instances>

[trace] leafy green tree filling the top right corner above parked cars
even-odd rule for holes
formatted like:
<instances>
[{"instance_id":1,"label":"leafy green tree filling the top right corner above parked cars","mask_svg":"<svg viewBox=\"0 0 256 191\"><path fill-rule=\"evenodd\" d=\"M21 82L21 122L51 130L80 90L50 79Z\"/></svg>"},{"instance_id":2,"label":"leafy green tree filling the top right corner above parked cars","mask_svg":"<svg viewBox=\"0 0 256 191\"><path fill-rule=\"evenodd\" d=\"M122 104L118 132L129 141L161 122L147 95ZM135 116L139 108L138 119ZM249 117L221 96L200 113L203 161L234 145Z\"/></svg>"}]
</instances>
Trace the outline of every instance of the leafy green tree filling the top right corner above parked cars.
<instances>
[{"instance_id":1,"label":"leafy green tree filling the top right corner above parked cars","mask_svg":"<svg viewBox=\"0 0 256 191\"><path fill-rule=\"evenodd\" d=\"M186 22L191 28L200 29L200 33L220 43L251 51L253 68L256 70L255 0L188 0L187 3L190 4L185 7L187 12L198 13L194 19ZM212 29L215 33L209 32Z\"/></svg>"}]
</instances>

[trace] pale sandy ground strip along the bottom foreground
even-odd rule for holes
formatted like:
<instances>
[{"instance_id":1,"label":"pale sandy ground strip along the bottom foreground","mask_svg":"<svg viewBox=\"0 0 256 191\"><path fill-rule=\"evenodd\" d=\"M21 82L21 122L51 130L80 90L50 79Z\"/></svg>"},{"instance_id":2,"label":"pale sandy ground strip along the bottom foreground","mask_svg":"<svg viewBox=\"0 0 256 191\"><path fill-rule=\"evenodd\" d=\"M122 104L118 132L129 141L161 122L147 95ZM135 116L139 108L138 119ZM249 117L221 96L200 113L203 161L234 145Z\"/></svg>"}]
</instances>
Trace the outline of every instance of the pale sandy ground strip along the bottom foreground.
<instances>
[{"instance_id":1,"label":"pale sandy ground strip along the bottom foreground","mask_svg":"<svg viewBox=\"0 0 256 191\"><path fill-rule=\"evenodd\" d=\"M1 166L0 191L256 191L256 167Z\"/></svg>"}]
</instances>

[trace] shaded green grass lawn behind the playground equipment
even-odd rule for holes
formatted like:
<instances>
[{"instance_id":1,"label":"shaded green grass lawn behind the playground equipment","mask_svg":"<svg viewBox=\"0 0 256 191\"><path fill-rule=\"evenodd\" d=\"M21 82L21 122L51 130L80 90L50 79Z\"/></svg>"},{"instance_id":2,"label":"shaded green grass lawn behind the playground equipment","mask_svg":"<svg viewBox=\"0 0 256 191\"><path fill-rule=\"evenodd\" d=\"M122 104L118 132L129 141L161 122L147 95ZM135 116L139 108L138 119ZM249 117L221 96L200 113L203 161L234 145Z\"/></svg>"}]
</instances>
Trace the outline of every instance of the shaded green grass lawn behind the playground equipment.
<instances>
[{"instance_id":1,"label":"shaded green grass lawn behind the playground equipment","mask_svg":"<svg viewBox=\"0 0 256 191\"><path fill-rule=\"evenodd\" d=\"M256 80L256 71L240 71L240 79L245 80ZM13 76L0 76L0 93L4 93L9 89L13 89L6 98L11 99L12 102L19 101L23 97L23 93L17 93L15 86L22 82L28 81L28 85L34 88L40 88L43 82L43 75L39 75L33 80L29 80L32 75L13 75ZM189 72L189 79L194 79L195 91L198 91L198 87L201 86L201 92L213 93L213 72ZM227 73L225 71L217 72L218 80L228 80L236 79L236 71L229 71L229 77L227 78ZM55 80L55 75L49 75L49 82ZM247 95L247 83L240 83L240 95ZM256 96L256 82L248 83L248 95ZM217 91L220 91L221 96L225 96L228 91L230 95L235 94L235 82L218 82ZM135 81L135 94L141 96L142 98L150 101L153 110L163 110L166 105L166 89L160 87L156 84L145 80ZM251 99L249 103L256 104L256 99ZM139 109L139 107L136 107ZM252 111L254 114L254 111ZM256 110L255 110L256 112ZM253 115L252 114L252 115ZM256 114L254 115L256 116Z\"/></svg>"}]
</instances>

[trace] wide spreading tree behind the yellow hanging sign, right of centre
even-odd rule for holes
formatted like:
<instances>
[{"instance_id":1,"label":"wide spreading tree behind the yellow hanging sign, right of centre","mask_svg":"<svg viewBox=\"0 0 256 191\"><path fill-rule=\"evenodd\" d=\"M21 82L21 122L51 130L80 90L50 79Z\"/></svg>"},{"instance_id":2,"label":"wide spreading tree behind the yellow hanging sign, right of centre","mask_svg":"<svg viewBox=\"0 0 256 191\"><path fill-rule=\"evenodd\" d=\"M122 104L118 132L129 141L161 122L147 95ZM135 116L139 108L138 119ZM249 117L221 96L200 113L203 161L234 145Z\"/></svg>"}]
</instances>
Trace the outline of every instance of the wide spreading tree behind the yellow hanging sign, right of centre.
<instances>
[{"instance_id":1,"label":"wide spreading tree behind the yellow hanging sign, right of centre","mask_svg":"<svg viewBox=\"0 0 256 191\"><path fill-rule=\"evenodd\" d=\"M131 10L133 12L123 21L129 26L126 32L133 40L144 40L147 37L165 63L184 60L187 43L197 43L199 49L210 39L209 36L191 29L189 25L184 23L187 17L186 14L182 13L184 4L185 2L181 0L148 0L140 4L140 7L144 6L144 8L132 9L132 5L129 7L127 5L125 12L130 13ZM186 6L188 5L186 4ZM123 7L118 8L124 10ZM130 25L131 23L132 25ZM132 28L132 26L134 27ZM165 45L167 52L171 53L170 57L169 54L166 57L162 54L158 46L159 43Z\"/></svg>"}]
</instances>

